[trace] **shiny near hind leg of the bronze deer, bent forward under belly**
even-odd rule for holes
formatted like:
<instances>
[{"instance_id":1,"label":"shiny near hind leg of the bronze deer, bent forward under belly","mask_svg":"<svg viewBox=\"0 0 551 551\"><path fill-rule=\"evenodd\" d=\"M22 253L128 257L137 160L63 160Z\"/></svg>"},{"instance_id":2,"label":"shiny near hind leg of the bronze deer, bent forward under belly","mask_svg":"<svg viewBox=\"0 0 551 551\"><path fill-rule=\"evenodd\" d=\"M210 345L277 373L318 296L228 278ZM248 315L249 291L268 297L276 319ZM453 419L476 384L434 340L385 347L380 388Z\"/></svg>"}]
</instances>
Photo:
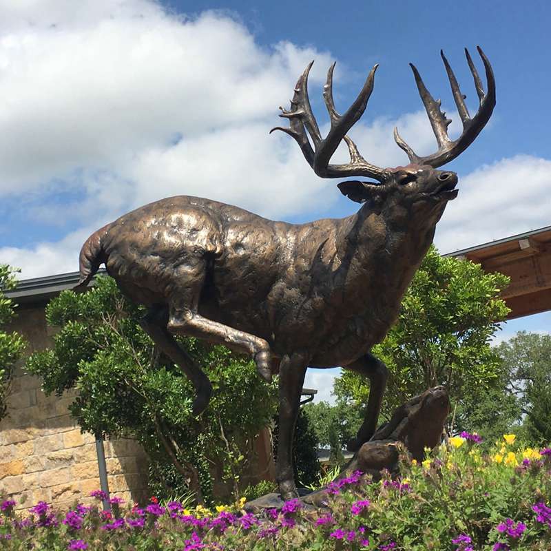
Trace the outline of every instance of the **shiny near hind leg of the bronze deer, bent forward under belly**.
<instances>
[{"instance_id":1,"label":"shiny near hind leg of the bronze deer, bent forward under belly","mask_svg":"<svg viewBox=\"0 0 551 551\"><path fill-rule=\"evenodd\" d=\"M267 341L251 333L209 320L198 313L205 274L205 259L196 259L194 264L189 262L185 267L180 267L178 281L185 282L185 285L178 286L171 292L168 331L176 335L187 335L217 344L227 344L232 349L249 353L256 362L260 376L265 381L271 382L272 355Z\"/></svg>"}]
</instances>

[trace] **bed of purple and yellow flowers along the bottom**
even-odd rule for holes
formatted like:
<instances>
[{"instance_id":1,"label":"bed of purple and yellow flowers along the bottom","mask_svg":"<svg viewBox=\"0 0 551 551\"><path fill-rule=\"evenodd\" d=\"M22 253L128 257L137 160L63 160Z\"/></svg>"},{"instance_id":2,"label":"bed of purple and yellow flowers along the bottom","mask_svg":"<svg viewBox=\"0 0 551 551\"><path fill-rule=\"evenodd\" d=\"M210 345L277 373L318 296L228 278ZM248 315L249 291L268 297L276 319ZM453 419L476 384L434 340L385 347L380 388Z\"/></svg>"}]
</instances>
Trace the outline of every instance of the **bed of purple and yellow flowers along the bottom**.
<instances>
[{"instance_id":1,"label":"bed of purple and yellow flowers along the bottom","mask_svg":"<svg viewBox=\"0 0 551 551\"><path fill-rule=\"evenodd\" d=\"M450 439L422 464L402 461L402 478L355 473L329 487L326 508L291 500L255 515L243 501L214 510L181 503L112 512L75 503L69 512L38 503L26 517L0 503L6 550L380 550L551 549L551 448L517 449L505 435L488 455L477 435ZM94 492L101 502L101 492Z\"/></svg>"}]
</instances>

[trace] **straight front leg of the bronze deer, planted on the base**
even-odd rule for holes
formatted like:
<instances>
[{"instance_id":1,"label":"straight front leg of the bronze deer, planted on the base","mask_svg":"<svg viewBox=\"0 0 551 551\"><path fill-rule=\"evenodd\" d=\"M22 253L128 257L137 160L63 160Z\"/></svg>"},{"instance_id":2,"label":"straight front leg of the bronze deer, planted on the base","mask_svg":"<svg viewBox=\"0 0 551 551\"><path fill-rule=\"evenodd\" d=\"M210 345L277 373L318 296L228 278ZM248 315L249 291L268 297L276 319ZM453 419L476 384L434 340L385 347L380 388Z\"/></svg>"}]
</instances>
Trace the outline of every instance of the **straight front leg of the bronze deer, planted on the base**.
<instances>
[{"instance_id":1,"label":"straight front leg of the bronze deer, planted on the base","mask_svg":"<svg viewBox=\"0 0 551 551\"><path fill-rule=\"evenodd\" d=\"M280 362L280 426L275 468L281 497L286 501L298 497L293 474L293 437L307 364L302 354L284 355Z\"/></svg>"}]
</instances>

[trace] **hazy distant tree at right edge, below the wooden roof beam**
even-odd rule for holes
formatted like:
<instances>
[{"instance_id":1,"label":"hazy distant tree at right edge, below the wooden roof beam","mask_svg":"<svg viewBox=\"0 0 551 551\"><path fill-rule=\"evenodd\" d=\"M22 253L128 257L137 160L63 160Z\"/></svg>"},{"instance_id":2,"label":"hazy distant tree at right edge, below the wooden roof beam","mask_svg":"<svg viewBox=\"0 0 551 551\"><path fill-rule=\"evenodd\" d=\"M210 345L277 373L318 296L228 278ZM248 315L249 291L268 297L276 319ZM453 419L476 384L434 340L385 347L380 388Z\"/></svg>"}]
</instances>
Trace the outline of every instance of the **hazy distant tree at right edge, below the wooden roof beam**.
<instances>
[{"instance_id":1,"label":"hazy distant tree at right edge, below the wooden roof beam","mask_svg":"<svg viewBox=\"0 0 551 551\"><path fill-rule=\"evenodd\" d=\"M519 331L497 346L508 375L510 397L517 400L523 429L532 444L551 441L551 335Z\"/></svg>"}]
</instances>

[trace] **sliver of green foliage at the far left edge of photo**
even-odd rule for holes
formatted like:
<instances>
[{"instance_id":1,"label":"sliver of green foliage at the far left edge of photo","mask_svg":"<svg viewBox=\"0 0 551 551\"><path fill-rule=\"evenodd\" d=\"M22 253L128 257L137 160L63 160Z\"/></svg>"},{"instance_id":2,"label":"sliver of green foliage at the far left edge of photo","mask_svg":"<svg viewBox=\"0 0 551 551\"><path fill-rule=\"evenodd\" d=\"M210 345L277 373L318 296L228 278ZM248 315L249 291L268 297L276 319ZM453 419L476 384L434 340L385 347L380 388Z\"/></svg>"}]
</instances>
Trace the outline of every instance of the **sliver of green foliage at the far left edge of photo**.
<instances>
[{"instance_id":1,"label":"sliver of green foliage at the far left edge of photo","mask_svg":"<svg viewBox=\"0 0 551 551\"><path fill-rule=\"evenodd\" d=\"M25 340L14 331L5 331L6 325L14 318L15 305L3 291L17 285L16 270L7 264L0 264L0 419L6 416L6 399L10 391L10 381L15 362L25 349Z\"/></svg>"}]
</instances>

